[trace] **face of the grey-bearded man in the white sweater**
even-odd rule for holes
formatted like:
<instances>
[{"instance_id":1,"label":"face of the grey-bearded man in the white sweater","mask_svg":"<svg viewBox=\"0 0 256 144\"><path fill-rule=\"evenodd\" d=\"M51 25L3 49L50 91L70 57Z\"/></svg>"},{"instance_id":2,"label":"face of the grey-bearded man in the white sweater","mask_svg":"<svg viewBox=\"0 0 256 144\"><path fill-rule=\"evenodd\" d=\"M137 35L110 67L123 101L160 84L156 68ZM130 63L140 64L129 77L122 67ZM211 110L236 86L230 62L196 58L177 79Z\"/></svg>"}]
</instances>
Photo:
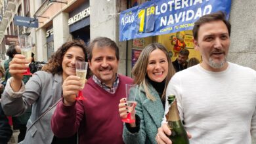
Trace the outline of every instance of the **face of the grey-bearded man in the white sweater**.
<instances>
[{"instance_id":1,"label":"face of the grey-bearded man in the white sweater","mask_svg":"<svg viewBox=\"0 0 256 144\"><path fill-rule=\"evenodd\" d=\"M194 45L202 54L203 68L209 71L226 69L230 37L223 21L216 20L202 24L198 31L198 40L194 40Z\"/></svg>"}]
</instances>

